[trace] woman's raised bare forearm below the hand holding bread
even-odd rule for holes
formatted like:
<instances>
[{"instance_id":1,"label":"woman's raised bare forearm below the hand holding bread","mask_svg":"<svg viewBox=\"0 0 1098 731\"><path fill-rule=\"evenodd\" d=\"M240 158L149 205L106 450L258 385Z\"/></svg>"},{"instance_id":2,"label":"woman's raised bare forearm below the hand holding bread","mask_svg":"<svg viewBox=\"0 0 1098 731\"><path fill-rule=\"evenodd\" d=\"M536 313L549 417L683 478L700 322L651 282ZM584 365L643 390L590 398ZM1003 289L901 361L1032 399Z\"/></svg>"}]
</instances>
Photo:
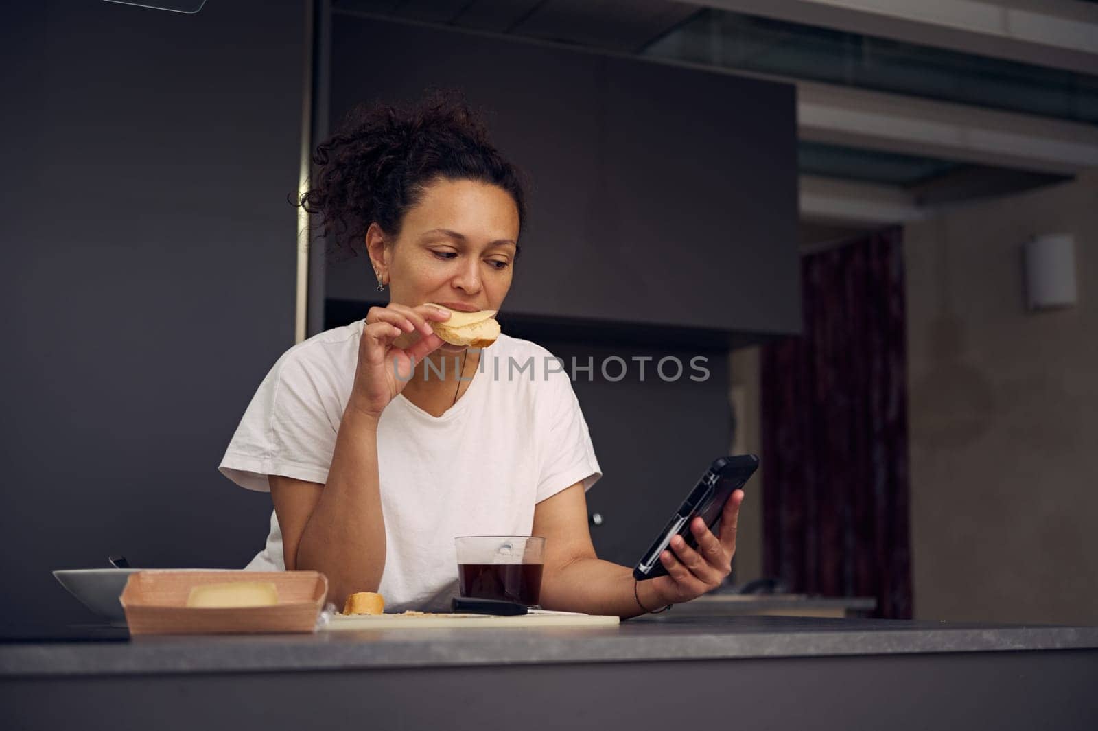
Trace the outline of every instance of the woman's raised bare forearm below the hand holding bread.
<instances>
[{"instance_id":1,"label":"woman's raised bare forearm below the hand holding bread","mask_svg":"<svg viewBox=\"0 0 1098 731\"><path fill-rule=\"evenodd\" d=\"M385 567L385 521L378 477L378 417L348 405L328 480L305 525L296 566L328 577L340 607L355 592L377 592Z\"/></svg>"}]
</instances>

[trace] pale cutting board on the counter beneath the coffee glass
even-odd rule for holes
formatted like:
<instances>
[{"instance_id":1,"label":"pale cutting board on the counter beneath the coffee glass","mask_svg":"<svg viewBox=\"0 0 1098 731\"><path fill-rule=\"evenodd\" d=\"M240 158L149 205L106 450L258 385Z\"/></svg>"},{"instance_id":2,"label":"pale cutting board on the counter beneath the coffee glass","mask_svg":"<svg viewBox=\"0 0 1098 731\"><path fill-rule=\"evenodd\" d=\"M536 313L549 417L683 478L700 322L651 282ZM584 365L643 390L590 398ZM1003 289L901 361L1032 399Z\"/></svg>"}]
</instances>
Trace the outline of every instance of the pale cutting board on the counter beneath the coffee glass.
<instances>
[{"instance_id":1,"label":"pale cutting board on the counter beneath the coffee glass","mask_svg":"<svg viewBox=\"0 0 1098 731\"><path fill-rule=\"evenodd\" d=\"M606 615L581 615L572 611L548 611L531 609L518 617L496 617L494 615L334 615L322 630L363 629L449 629L457 627L480 627L481 629L525 628L525 627L616 627L618 617Z\"/></svg>"}]
</instances>

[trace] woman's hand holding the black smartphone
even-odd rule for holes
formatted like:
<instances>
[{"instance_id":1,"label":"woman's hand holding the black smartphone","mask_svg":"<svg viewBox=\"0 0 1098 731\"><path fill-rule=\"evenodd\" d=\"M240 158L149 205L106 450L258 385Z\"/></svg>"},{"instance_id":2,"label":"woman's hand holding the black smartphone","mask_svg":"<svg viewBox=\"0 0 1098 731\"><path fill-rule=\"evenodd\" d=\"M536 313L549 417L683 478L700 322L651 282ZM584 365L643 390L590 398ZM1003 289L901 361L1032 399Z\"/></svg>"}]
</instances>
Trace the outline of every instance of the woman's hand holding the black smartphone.
<instances>
[{"instance_id":1,"label":"woman's hand holding the black smartphone","mask_svg":"<svg viewBox=\"0 0 1098 731\"><path fill-rule=\"evenodd\" d=\"M649 585L647 594L652 597L643 603L645 607L658 609L668 604L690 601L724 583L732 570L736 525L742 502L743 491L737 490L725 503L720 516L720 538L713 535L701 517L691 521L691 532L697 541L697 550L687 546L681 536L671 539L671 550L660 554L668 575L641 582L641 586ZM643 595L640 596L643 598Z\"/></svg>"}]
</instances>

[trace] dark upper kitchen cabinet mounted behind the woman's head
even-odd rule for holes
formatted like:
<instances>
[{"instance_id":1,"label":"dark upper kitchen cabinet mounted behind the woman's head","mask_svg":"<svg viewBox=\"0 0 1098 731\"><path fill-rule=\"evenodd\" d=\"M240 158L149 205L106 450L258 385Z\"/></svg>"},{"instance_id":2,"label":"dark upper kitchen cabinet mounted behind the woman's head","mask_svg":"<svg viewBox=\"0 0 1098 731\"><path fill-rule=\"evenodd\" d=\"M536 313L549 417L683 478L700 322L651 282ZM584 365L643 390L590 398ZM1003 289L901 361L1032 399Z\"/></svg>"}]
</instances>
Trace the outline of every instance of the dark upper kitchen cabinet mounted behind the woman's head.
<instances>
[{"instance_id":1,"label":"dark upper kitchen cabinet mounted behind the woman's head","mask_svg":"<svg viewBox=\"0 0 1098 731\"><path fill-rule=\"evenodd\" d=\"M333 123L427 87L492 112L533 181L506 314L741 342L798 330L792 86L341 14L330 60ZM329 263L326 290L378 296L365 257Z\"/></svg>"}]
</instances>

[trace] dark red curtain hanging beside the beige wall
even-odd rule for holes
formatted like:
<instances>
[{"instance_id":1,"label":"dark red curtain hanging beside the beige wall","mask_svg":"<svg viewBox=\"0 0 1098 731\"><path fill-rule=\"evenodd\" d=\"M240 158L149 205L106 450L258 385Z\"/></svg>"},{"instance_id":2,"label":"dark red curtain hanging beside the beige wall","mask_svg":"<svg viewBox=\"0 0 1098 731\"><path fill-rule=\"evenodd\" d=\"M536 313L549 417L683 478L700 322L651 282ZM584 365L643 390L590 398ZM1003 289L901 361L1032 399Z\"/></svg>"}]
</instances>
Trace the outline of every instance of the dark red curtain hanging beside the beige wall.
<instances>
[{"instance_id":1,"label":"dark red curtain hanging beside the beige wall","mask_svg":"<svg viewBox=\"0 0 1098 731\"><path fill-rule=\"evenodd\" d=\"M803 257L804 333L762 357L763 561L911 617L903 230Z\"/></svg>"}]
</instances>

